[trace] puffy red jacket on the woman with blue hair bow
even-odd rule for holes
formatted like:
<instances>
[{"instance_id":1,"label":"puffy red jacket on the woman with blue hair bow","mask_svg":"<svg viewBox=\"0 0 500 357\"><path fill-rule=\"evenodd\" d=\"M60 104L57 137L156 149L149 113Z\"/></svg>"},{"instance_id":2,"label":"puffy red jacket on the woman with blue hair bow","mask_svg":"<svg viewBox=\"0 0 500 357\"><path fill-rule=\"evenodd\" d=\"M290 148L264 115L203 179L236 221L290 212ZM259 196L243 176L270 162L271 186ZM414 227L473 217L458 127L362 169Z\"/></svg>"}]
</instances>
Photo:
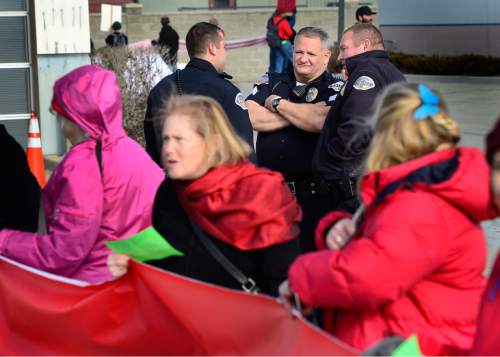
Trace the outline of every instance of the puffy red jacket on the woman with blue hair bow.
<instances>
[{"instance_id":1,"label":"puffy red jacket on the woman with blue hair bow","mask_svg":"<svg viewBox=\"0 0 500 357\"><path fill-rule=\"evenodd\" d=\"M488 181L483 155L471 148L366 175L368 208L355 239L299 257L292 290L305 304L330 307L325 328L355 348L412 333L426 354L470 348L486 260L479 221L495 214Z\"/></svg>"}]
</instances>

